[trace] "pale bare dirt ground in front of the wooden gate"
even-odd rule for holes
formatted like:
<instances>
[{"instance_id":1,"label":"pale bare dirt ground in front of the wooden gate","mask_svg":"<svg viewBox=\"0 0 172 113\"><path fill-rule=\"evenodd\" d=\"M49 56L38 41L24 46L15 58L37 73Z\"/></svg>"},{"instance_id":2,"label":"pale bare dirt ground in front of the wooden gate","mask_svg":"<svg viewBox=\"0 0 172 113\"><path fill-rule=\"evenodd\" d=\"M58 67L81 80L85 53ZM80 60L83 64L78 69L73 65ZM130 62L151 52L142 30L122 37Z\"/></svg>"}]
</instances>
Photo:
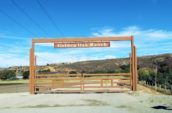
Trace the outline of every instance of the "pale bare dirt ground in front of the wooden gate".
<instances>
[{"instance_id":1,"label":"pale bare dirt ground in front of the wooden gate","mask_svg":"<svg viewBox=\"0 0 172 113\"><path fill-rule=\"evenodd\" d=\"M157 107L158 106L158 107ZM152 107L157 107L154 109ZM159 108L159 109L158 109ZM0 94L0 113L171 113L172 96L139 85L127 93Z\"/></svg>"}]
</instances>

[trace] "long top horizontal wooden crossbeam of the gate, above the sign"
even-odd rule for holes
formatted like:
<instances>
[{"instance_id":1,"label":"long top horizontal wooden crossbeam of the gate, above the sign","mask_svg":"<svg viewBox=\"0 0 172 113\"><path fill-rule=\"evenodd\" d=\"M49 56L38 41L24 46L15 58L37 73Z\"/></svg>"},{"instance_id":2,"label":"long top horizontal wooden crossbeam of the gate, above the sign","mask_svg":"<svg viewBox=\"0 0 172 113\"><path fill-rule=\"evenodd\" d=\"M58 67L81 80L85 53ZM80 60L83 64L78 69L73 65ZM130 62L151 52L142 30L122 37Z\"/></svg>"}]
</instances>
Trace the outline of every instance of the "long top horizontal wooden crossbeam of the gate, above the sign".
<instances>
[{"instance_id":1,"label":"long top horizontal wooden crossbeam of the gate, above the sign","mask_svg":"<svg viewBox=\"0 0 172 113\"><path fill-rule=\"evenodd\" d=\"M87 41L131 41L132 36L118 37L86 37L86 38L35 38L33 43L55 43L55 42L87 42Z\"/></svg>"}]
</instances>

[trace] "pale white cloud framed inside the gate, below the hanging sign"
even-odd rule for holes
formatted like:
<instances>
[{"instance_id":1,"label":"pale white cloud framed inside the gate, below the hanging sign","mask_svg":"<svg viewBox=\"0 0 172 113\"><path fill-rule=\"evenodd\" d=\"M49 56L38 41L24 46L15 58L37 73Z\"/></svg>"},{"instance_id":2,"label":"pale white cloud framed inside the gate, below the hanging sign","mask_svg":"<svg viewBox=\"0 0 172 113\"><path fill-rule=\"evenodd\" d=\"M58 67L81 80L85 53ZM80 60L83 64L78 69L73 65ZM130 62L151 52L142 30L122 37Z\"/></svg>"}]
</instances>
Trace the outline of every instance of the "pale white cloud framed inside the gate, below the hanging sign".
<instances>
[{"instance_id":1,"label":"pale white cloud framed inside the gate, below the hanging sign","mask_svg":"<svg viewBox=\"0 0 172 113\"><path fill-rule=\"evenodd\" d=\"M65 50L64 50L65 51ZM100 59L110 59L116 58L114 55L97 55L95 50L91 49L76 49L76 50L66 50L67 52L36 52L35 55L38 57L37 63L39 65L45 65L48 63L63 63L63 62L77 62L77 61L87 61L87 60L100 60ZM87 51L87 52L85 52ZM90 55L86 55L86 54ZM91 55L92 54L92 55Z\"/></svg>"}]
</instances>

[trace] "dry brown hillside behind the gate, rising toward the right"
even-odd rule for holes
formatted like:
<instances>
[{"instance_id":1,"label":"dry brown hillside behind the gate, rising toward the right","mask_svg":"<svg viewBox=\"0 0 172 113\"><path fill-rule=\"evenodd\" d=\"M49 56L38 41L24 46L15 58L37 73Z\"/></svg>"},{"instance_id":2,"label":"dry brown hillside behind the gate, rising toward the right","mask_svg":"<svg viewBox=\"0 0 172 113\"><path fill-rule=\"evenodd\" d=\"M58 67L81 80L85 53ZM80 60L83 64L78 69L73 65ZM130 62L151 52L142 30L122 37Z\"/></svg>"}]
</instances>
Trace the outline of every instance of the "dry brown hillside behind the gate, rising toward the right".
<instances>
[{"instance_id":1,"label":"dry brown hillside behind the gate, rising toward the right","mask_svg":"<svg viewBox=\"0 0 172 113\"><path fill-rule=\"evenodd\" d=\"M172 65L172 54L149 55L138 57L139 68L155 68L160 64L165 63L168 66ZM28 66L9 67L10 70L26 71ZM105 60L90 60L74 63L47 64L38 66L38 70L50 70L51 72L121 72L129 71L129 58L105 59Z\"/></svg>"}]
</instances>

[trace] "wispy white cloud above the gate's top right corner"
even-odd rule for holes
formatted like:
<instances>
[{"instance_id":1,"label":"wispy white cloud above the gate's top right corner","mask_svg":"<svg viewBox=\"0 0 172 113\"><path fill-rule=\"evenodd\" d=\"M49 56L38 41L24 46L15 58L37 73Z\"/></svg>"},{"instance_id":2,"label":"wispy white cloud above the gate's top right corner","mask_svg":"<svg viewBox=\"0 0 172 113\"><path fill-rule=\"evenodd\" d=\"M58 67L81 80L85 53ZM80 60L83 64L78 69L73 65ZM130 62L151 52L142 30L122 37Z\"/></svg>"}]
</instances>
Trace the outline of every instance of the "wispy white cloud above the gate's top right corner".
<instances>
[{"instance_id":1,"label":"wispy white cloud above the gate's top right corner","mask_svg":"<svg viewBox=\"0 0 172 113\"><path fill-rule=\"evenodd\" d=\"M93 32L93 36L126 36L134 35L135 37L143 37L144 40L166 40L172 38L172 31L162 29L141 29L137 26L129 26L121 31L114 31L113 28L101 29Z\"/></svg>"}]
</instances>

